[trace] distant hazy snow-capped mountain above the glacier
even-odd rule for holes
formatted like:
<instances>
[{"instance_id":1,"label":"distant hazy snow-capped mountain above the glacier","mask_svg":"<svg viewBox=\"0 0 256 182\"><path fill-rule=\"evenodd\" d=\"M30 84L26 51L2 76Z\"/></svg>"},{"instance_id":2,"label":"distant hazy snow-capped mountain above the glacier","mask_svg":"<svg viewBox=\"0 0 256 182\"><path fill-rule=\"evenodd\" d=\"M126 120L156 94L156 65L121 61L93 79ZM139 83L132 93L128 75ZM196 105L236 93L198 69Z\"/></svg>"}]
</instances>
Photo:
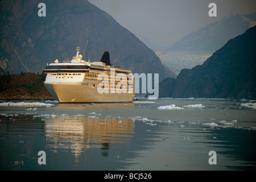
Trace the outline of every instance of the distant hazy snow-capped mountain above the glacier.
<instances>
[{"instance_id":1,"label":"distant hazy snow-capped mountain above the glacier","mask_svg":"<svg viewBox=\"0 0 256 182\"><path fill-rule=\"evenodd\" d=\"M256 14L240 15L231 13L218 22L213 22L180 39L168 51L204 51L214 52L228 40L243 34L255 25Z\"/></svg>"}]
</instances>

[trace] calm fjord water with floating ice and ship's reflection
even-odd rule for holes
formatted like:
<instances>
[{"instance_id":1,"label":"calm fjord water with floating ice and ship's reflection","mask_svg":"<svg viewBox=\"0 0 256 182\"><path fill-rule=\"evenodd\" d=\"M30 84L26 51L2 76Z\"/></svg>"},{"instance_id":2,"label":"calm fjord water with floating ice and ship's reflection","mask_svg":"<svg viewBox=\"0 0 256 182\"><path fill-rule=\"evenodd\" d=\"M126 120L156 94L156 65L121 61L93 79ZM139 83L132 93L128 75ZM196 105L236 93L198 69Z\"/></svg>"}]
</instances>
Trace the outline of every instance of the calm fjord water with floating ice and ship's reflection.
<instances>
[{"instance_id":1,"label":"calm fjord water with floating ice and ship's reflection","mask_svg":"<svg viewBox=\"0 0 256 182\"><path fill-rule=\"evenodd\" d=\"M246 102L2 101L0 169L255 170L256 110ZM39 164L39 151L46 164ZM210 151L216 164L209 164Z\"/></svg>"}]
</instances>

